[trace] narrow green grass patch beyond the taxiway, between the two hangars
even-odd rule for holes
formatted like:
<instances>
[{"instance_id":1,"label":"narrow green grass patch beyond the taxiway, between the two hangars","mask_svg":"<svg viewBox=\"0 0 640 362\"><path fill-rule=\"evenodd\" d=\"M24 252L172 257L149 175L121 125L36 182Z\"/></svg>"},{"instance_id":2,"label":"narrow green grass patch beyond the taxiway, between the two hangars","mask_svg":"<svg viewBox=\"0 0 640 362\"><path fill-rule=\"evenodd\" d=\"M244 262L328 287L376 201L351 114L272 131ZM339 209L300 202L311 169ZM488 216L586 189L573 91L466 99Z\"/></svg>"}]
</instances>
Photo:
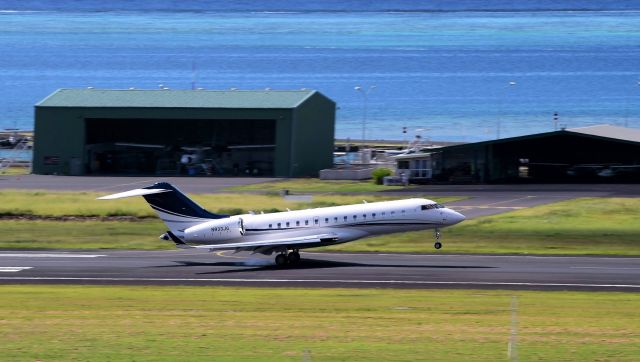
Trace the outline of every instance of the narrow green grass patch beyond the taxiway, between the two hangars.
<instances>
[{"instance_id":1,"label":"narrow green grass patch beyond the taxiway, between the two hangars","mask_svg":"<svg viewBox=\"0 0 640 362\"><path fill-rule=\"evenodd\" d=\"M409 186L410 187L410 186ZM264 191L279 192L290 190L291 192L376 192L385 190L402 190L404 187L376 185L371 180L342 181L320 180L317 178L288 179L282 181L269 181L251 185L232 186L228 191Z\"/></svg>"}]
</instances>

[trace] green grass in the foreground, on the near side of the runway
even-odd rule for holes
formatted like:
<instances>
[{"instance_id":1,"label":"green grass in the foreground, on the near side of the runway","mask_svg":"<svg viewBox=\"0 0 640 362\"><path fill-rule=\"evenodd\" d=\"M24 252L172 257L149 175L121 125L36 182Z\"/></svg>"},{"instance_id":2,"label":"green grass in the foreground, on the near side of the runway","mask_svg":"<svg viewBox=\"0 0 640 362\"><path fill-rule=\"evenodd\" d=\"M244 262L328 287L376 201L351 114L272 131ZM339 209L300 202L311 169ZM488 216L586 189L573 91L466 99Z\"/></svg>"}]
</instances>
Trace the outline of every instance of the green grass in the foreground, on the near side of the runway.
<instances>
[{"instance_id":1,"label":"green grass in the foreground, on the near side of the runway","mask_svg":"<svg viewBox=\"0 0 640 362\"><path fill-rule=\"evenodd\" d=\"M2 361L636 361L640 294L0 286Z\"/></svg>"}]
</instances>

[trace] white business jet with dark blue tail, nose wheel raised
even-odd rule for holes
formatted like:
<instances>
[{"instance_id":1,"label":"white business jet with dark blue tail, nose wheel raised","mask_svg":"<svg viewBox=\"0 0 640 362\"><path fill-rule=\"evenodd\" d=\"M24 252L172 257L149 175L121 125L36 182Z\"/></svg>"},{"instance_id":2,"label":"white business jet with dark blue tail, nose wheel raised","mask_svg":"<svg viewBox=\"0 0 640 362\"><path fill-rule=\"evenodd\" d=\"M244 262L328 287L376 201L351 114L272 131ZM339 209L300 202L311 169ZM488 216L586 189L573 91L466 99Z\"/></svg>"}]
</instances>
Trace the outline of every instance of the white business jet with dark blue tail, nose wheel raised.
<instances>
[{"instance_id":1,"label":"white business jet with dark blue tail, nose wheel raised","mask_svg":"<svg viewBox=\"0 0 640 362\"><path fill-rule=\"evenodd\" d=\"M132 196L144 197L169 229L160 239L171 240L178 248L276 253L275 263L279 267L298 264L301 249L405 231L434 229L434 247L440 249L440 229L465 219L441 204L419 198L268 214L220 215L205 210L167 182L98 199Z\"/></svg>"}]
</instances>

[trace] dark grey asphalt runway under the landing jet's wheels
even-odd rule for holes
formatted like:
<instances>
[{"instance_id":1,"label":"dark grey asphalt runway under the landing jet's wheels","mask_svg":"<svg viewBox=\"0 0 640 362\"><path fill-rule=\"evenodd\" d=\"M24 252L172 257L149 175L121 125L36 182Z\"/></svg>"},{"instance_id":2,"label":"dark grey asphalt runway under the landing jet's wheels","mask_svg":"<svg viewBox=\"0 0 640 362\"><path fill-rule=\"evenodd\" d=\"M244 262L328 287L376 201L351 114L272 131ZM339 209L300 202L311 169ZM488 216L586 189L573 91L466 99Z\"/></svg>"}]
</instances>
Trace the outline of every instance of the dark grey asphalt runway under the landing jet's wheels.
<instances>
[{"instance_id":1,"label":"dark grey asphalt runway under the landing jet's wheels","mask_svg":"<svg viewBox=\"0 0 640 362\"><path fill-rule=\"evenodd\" d=\"M311 288L470 288L640 292L640 258L200 251L1 251L2 284L233 285Z\"/></svg>"}]
</instances>

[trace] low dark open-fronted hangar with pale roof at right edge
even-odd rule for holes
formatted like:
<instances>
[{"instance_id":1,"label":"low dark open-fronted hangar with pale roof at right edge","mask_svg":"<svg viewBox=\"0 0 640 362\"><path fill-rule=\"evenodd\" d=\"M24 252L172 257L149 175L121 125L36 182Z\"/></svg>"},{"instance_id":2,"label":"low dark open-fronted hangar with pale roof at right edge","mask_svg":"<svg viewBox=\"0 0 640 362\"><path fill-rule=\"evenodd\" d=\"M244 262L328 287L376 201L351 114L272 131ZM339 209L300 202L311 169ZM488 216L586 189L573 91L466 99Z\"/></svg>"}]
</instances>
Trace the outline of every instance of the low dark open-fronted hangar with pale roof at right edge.
<instances>
[{"instance_id":1,"label":"low dark open-fronted hangar with pale roof at right edge","mask_svg":"<svg viewBox=\"0 0 640 362\"><path fill-rule=\"evenodd\" d=\"M597 125L432 150L434 181L638 182L640 130Z\"/></svg>"}]
</instances>

